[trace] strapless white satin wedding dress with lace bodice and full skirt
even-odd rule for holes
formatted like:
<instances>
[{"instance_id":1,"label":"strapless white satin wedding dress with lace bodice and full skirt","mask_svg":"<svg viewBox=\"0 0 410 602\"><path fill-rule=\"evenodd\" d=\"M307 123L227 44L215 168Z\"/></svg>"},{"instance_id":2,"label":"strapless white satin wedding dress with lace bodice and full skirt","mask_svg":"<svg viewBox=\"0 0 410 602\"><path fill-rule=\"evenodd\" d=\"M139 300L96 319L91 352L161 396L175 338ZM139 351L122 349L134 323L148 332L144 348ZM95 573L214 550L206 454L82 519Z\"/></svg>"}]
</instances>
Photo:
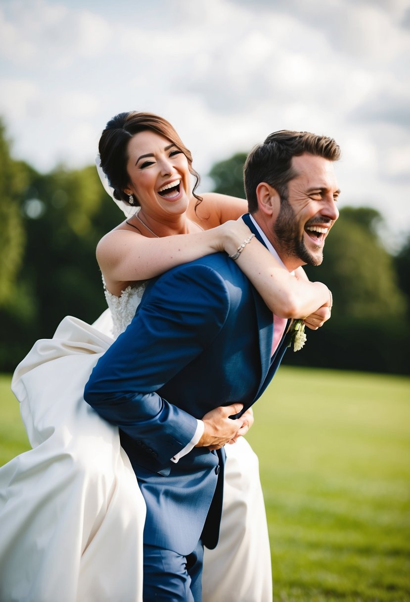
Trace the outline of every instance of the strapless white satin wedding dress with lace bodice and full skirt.
<instances>
[{"instance_id":1,"label":"strapless white satin wedding dress with lace bodice and full skirt","mask_svg":"<svg viewBox=\"0 0 410 602\"><path fill-rule=\"evenodd\" d=\"M144 499L117 427L83 390L143 291L106 291L109 309L93 326L64 318L14 372L32 450L0 468L0 602L142 602ZM205 552L203 602L270 602L257 456L243 438L225 449L221 536Z\"/></svg>"}]
</instances>

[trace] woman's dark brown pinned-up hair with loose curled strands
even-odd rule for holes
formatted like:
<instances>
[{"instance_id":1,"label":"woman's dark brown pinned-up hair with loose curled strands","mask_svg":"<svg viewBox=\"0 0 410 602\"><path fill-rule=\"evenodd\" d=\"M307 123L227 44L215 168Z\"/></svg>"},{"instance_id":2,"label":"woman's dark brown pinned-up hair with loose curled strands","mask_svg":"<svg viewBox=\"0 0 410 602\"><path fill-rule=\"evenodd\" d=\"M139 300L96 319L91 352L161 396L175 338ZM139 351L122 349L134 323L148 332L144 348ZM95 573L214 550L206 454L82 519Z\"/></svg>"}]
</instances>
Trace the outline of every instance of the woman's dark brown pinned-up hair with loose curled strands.
<instances>
[{"instance_id":1,"label":"woman's dark brown pinned-up hair with loose curled strands","mask_svg":"<svg viewBox=\"0 0 410 602\"><path fill-rule=\"evenodd\" d=\"M189 172L195 178L192 194L200 202L201 197L195 194L195 190L200 183L200 175L192 167L191 151L183 144L170 122L153 113L139 113L138 111L118 113L118 115L112 117L102 132L99 141L101 167L108 178L110 186L114 188L114 197L117 200L129 203L129 197L124 193L124 188L129 184L127 173L128 143L135 134L147 129L168 138L183 152L188 160ZM135 201L138 203L137 199Z\"/></svg>"}]
</instances>

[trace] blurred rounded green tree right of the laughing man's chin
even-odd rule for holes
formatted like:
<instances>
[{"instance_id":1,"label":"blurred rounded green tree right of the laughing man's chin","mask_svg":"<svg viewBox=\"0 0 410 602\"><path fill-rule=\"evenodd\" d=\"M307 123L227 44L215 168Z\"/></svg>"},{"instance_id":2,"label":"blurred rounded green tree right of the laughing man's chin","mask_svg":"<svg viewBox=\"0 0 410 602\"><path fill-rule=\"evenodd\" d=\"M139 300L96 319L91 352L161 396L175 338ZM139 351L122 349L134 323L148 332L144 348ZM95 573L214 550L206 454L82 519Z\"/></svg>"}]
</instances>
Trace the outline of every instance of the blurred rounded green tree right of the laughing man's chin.
<instances>
[{"instance_id":1,"label":"blurred rounded green tree right of the laughing man's chin","mask_svg":"<svg viewBox=\"0 0 410 602\"><path fill-rule=\"evenodd\" d=\"M288 363L408 371L403 355L410 343L406 299L397 284L393 258L377 234L381 221L375 209L341 209L326 239L323 264L306 267L309 278L331 289L332 318L308 334L306 355L288 354Z\"/></svg>"}]
</instances>

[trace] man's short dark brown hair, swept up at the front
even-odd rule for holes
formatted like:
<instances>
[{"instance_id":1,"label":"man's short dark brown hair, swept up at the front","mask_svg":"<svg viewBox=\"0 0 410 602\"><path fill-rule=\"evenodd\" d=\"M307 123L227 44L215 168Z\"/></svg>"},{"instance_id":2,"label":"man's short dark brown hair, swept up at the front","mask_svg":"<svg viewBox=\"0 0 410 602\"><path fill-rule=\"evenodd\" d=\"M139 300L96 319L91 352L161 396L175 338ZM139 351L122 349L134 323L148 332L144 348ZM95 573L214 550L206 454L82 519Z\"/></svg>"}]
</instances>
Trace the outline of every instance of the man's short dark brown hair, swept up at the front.
<instances>
[{"instance_id":1,"label":"man's short dark brown hair, swept up at the front","mask_svg":"<svg viewBox=\"0 0 410 602\"><path fill-rule=\"evenodd\" d=\"M328 136L289 129L273 132L262 144L254 146L243 167L249 213L258 209L256 188L260 182L271 185L281 199L287 199L287 184L297 175L292 167L292 158L304 153L337 161L340 147Z\"/></svg>"}]
</instances>

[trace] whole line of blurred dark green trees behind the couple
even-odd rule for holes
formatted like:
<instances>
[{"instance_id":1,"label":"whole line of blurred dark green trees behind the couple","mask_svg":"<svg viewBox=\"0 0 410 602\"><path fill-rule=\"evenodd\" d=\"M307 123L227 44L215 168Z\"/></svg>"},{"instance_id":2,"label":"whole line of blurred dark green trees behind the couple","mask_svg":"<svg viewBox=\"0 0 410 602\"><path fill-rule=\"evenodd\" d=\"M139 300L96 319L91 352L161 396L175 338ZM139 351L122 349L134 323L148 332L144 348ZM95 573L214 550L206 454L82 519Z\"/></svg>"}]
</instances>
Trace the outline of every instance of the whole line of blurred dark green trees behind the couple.
<instances>
[{"instance_id":1,"label":"whole line of blurred dark green trees behind the couple","mask_svg":"<svg viewBox=\"0 0 410 602\"><path fill-rule=\"evenodd\" d=\"M210 170L215 191L243 197L238 153ZM13 371L38 338L50 338L65 315L92 323L106 308L95 249L120 222L94 166L57 166L40 174L11 156L0 122L0 371ZM383 246L382 217L343 208L311 280L332 290L332 318L307 330L293 365L408 374L410 233L397 255Z\"/></svg>"}]
</instances>

